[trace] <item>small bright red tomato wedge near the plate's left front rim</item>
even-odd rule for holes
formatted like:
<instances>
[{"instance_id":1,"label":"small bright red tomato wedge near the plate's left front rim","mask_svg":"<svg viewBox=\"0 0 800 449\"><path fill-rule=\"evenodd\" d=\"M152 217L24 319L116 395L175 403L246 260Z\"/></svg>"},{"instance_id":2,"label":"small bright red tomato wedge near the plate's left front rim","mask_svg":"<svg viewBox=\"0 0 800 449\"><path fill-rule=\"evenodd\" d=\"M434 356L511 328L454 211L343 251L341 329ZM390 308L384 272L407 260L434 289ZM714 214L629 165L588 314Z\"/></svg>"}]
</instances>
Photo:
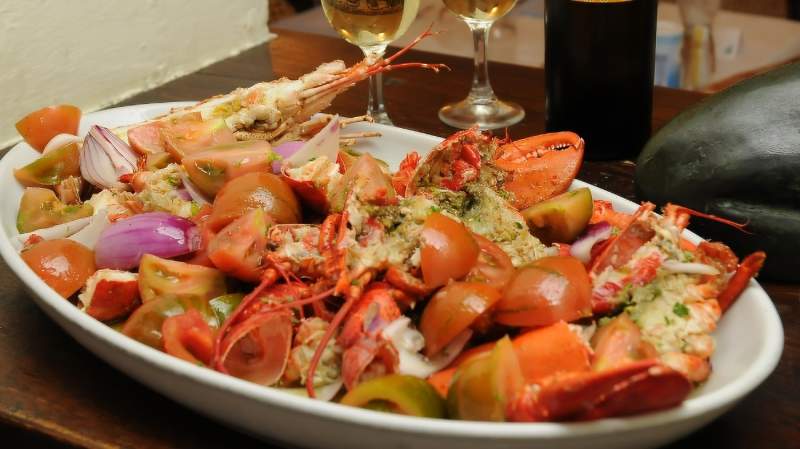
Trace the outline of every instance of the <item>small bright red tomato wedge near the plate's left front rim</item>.
<instances>
[{"instance_id":1,"label":"small bright red tomato wedge near the plate's left front rim","mask_svg":"<svg viewBox=\"0 0 800 449\"><path fill-rule=\"evenodd\" d=\"M164 351L179 359L208 365L214 355L214 331L195 309L171 316L161 325Z\"/></svg>"}]
</instances>

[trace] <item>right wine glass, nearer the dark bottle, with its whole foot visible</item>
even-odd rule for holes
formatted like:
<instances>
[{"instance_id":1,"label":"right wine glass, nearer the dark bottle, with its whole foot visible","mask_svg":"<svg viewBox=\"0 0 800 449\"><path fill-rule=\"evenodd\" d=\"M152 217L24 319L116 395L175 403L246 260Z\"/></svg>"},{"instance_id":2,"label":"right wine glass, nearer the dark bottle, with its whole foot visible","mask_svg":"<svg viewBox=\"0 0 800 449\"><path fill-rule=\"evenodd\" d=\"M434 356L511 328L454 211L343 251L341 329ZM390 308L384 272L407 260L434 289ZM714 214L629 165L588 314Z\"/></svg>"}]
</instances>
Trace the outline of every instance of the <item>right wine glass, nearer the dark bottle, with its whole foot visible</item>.
<instances>
[{"instance_id":1,"label":"right wine glass, nearer the dark bottle, with its whole foot visible","mask_svg":"<svg viewBox=\"0 0 800 449\"><path fill-rule=\"evenodd\" d=\"M475 46L475 72L467 98L439 109L439 118L456 128L477 125L480 129L511 126L525 117L516 103L498 100L489 83L486 47L492 23L506 15L516 0L444 0L445 6L467 23Z\"/></svg>"}]
</instances>

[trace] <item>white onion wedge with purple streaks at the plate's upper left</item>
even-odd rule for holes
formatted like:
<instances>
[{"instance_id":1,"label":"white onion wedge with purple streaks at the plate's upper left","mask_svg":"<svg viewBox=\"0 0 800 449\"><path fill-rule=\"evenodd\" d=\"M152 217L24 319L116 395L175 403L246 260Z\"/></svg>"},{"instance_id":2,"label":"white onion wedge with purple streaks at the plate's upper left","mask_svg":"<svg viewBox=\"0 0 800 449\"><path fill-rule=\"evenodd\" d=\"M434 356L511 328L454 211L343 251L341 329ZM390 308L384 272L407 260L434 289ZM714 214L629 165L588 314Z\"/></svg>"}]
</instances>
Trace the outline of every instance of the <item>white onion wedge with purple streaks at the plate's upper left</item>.
<instances>
[{"instance_id":1,"label":"white onion wedge with purple streaks at the plate's upper left","mask_svg":"<svg viewBox=\"0 0 800 449\"><path fill-rule=\"evenodd\" d=\"M92 126L81 147L81 175L101 189L127 189L120 176L136 171L138 156L108 128Z\"/></svg>"}]
</instances>

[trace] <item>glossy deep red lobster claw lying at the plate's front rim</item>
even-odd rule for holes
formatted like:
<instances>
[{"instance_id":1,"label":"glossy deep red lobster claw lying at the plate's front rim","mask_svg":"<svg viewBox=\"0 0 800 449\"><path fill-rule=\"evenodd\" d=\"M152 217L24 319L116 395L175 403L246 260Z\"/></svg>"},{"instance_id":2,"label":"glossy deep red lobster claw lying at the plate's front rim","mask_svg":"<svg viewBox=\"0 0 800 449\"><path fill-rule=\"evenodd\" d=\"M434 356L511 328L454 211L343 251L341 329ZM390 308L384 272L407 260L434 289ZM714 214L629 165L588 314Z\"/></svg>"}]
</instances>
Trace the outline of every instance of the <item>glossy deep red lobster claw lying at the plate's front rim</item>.
<instances>
[{"instance_id":1,"label":"glossy deep red lobster claw lying at the plate's front rim","mask_svg":"<svg viewBox=\"0 0 800 449\"><path fill-rule=\"evenodd\" d=\"M680 404L692 390L683 374L649 359L600 372L556 374L526 387L509 404L510 421L583 421Z\"/></svg>"}]
</instances>

